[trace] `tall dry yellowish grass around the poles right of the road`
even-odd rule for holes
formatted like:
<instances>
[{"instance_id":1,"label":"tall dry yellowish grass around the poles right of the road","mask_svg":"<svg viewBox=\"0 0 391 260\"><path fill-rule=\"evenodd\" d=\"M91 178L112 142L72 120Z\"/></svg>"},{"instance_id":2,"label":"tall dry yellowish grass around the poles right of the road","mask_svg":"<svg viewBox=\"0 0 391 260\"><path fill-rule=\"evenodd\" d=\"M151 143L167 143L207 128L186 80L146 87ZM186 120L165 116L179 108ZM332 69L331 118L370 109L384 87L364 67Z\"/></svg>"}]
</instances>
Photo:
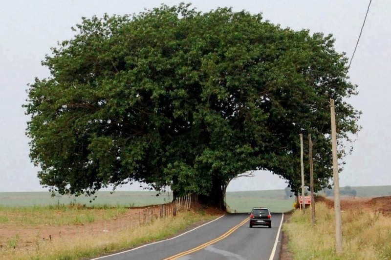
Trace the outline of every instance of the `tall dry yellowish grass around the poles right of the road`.
<instances>
[{"instance_id":1,"label":"tall dry yellowish grass around the poles right of the road","mask_svg":"<svg viewBox=\"0 0 391 260\"><path fill-rule=\"evenodd\" d=\"M343 254L335 253L334 211L316 204L316 224L311 210L296 210L283 231L294 259L387 260L391 259L391 218L377 210L352 208L342 212Z\"/></svg>"}]
</instances>

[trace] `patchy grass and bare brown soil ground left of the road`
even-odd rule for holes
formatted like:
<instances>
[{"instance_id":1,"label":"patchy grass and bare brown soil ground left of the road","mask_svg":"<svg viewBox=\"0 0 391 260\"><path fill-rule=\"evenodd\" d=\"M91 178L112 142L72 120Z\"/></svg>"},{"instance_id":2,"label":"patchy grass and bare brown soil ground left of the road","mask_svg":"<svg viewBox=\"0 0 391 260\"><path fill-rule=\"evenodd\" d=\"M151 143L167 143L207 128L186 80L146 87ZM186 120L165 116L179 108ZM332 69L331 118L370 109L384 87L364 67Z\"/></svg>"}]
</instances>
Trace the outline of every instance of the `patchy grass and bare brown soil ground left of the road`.
<instances>
[{"instance_id":1,"label":"patchy grass and bare brown soil ground left of the road","mask_svg":"<svg viewBox=\"0 0 391 260\"><path fill-rule=\"evenodd\" d=\"M102 209L85 209L76 206L60 206L57 209L50 209L50 206L29 207L28 216L24 215L24 210L24 208L0 208L0 219L1 213L10 217L6 223L0 223L2 228L0 228L0 260L91 259L124 248L162 240L178 234L193 223L213 220L221 214L221 212L210 214L209 211L198 209L178 212L176 217L157 218L142 225L131 222L118 225L120 224L118 218L126 216L131 209L114 208L118 214L111 214L111 216L107 214L113 209L104 209L102 212ZM84 216L86 211L93 216L91 222L88 220L72 222L75 217ZM19 218L18 213L25 218ZM55 220L47 217L48 215L54 215ZM117 225L101 225L106 223L102 221L107 218L109 220L105 221ZM34 219L39 219L40 222L36 223ZM81 232L80 229L83 228L84 231L88 228L91 230ZM67 232L71 230L77 232Z\"/></svg>"}]
</instances>

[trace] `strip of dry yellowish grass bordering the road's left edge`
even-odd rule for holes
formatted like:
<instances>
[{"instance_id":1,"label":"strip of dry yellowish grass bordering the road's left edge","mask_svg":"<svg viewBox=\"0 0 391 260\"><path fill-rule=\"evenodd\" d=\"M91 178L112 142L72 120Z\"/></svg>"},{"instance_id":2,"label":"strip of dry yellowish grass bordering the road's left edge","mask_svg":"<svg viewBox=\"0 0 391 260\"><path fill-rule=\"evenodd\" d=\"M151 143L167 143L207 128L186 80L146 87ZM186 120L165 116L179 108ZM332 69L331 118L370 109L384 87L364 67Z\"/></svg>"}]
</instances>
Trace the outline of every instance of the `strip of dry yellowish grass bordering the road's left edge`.
<instances>
[{"instance_id":1,"label":"strip of dry yellowish grass bordering the road's left edge","mask_svg":"<svg viewBox=\"0 0 391 260\"><path fill-rule=\"evenodd\" d=\"M101 232L93 236L77 236L62 240L37 240L28 250L13 250L20 238L9 240L8 250L1 250L0 259L70 260L91 258L100 254L135 247L142 243L162 240L184 230L190 224L216 218L202 211L178 213L176 217L153 220L145 226L133 226L119 232Z\"/></svg>"}]
</instances>

